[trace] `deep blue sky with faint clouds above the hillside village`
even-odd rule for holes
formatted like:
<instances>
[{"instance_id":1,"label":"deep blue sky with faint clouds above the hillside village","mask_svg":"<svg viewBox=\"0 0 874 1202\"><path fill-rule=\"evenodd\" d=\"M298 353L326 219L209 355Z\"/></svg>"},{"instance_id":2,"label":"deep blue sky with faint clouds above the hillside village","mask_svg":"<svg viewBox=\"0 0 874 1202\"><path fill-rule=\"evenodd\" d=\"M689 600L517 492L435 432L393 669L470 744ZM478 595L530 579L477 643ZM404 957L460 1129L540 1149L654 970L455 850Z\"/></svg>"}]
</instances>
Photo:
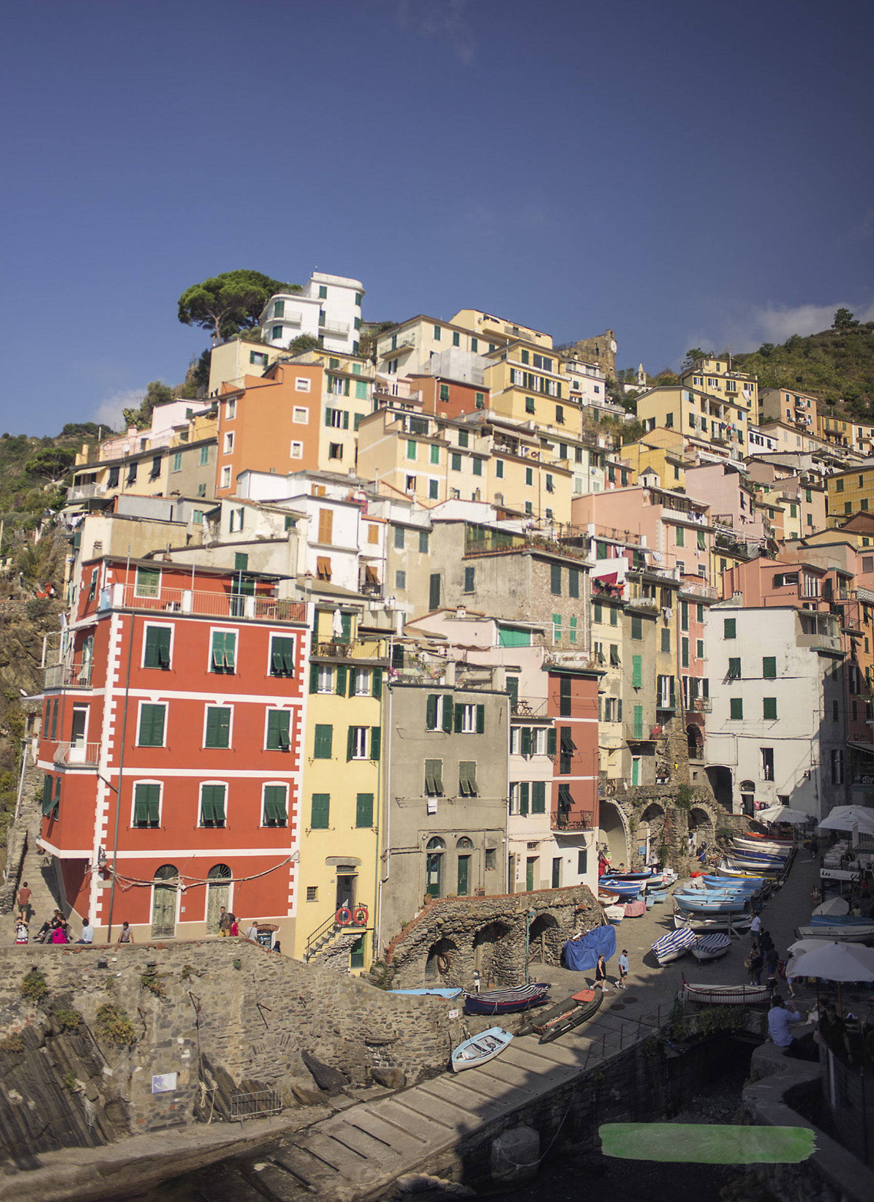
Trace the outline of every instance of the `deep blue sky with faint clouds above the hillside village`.
<instances>
[{"instance_id":1,"label":"deep blue sky with faint clouds above the hillside village","mask_svg":"<svg viewBox=\"0 0 874 1202\"><path fill-rule=\"evenodd\" d=\"M6 6L0 433L179 382L190 284L363 280L620 367L874 319L874 5Z\"/></svg>"}]
</instances>

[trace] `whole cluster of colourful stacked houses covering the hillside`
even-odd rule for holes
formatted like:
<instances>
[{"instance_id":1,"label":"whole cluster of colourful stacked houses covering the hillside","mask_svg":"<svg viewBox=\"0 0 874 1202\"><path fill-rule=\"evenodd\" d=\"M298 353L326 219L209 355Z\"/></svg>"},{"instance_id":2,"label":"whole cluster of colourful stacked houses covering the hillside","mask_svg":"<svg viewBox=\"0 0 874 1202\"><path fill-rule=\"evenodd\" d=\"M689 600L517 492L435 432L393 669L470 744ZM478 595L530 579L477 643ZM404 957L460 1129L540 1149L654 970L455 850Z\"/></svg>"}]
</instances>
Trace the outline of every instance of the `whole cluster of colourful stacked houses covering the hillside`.
<instances>
[{"instance_id":1,"label":"whole cluster of colourful stacked houses covering the hillside","mask_svg":"<svg viewBox=\"0 0 874 1202\"><path fill-rule=\"evenodd\" d=\"M730 356L620 382L610 329L363 304L270 296L200 395L76 457L26 736L95 942L224 906L367 971L432 898L869 803L874 422Z\"/></svg>"}]
</instances>

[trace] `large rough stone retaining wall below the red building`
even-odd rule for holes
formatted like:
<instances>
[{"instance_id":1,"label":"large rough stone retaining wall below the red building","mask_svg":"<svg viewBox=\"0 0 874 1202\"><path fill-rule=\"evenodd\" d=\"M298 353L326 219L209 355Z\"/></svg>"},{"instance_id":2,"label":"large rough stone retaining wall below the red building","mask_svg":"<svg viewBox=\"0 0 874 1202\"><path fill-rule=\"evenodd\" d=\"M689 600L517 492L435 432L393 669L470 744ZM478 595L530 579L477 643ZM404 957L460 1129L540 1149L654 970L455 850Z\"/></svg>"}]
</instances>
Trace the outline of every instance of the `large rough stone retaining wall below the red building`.
<instances>
[{"instance_id":1,"label":"large rough stone retaining wall below the red building","mask_svg":"<svg viewBox=\"0 0 874 1202\"><path fill-rule=\"evenodd\" d=\"M100 960L107 966L100 968ZM442 999L392 996L369 980L307 965L246 940L204 939L118 948L5 948L0 1041L44 1020L44 1007L19 992L34 965L46 976L48 1004L59 994L71 998L91 1031L106 1002L133 1023L130 1048L97 1043L119 1095L130 1102L136 1131L183 1125L195 1103L209 1113L216 1087L224 1096L240 1083L243 1091L274 1088L293 1106L295 1088L315 1089L302 1052L339 1069L352 1084L369 1084L371 1067L397 1069L415 1082L445 1067L459 1036ZM165 1082L172 1088L153 1093L153 1077L173 1073L176 1079Z\"/></svg>"}]
</instances>

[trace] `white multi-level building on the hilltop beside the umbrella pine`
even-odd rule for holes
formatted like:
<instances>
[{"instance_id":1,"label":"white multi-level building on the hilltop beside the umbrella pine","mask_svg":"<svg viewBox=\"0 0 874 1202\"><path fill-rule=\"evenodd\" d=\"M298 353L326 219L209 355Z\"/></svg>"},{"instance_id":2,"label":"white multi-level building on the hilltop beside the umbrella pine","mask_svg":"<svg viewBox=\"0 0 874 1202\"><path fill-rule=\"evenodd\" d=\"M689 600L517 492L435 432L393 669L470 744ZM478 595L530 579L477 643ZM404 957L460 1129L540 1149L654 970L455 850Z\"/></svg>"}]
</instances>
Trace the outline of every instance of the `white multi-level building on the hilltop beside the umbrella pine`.
<instances>
[{"instance_id":1,"label":"white multi-level building on the hilltop beside the umbrella pine","mask_svg":"<svg viewBox=\"0 0 874 1202\"><path fill-rule=\"evenodd\" d=\"M286 347L301 334L317 338L326 351L358 353L364 286L345 275L314 272L302 292L277 292L261 314L261 337Z\"/></svg>"}]
</instances>

